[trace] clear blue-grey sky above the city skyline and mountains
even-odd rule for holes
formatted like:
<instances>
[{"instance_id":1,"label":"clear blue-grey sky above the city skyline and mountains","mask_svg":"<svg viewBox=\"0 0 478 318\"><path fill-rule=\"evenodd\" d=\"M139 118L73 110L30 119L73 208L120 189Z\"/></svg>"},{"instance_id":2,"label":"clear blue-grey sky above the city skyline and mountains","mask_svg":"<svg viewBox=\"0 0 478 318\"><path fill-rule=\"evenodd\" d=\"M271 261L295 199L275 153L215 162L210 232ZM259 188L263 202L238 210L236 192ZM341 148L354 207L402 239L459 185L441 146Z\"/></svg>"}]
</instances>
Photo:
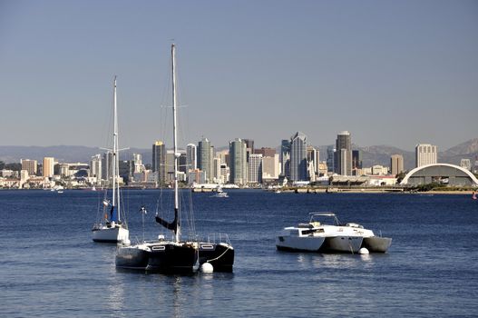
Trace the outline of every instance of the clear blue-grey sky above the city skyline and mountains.
<instances>
[{"instance_id":1,"label":"clear blue-grey sky above the city skyline and mountains","mask_svg":"<svg viewBox=\"0 0 478 318\"><path fill-rule=\"evenodd\" d=\"M122 146L167 140L171 39L182 145L478 137L478 1L0 0L0 145L102 146L113 75Z\"/></svg>"}]
</instances>

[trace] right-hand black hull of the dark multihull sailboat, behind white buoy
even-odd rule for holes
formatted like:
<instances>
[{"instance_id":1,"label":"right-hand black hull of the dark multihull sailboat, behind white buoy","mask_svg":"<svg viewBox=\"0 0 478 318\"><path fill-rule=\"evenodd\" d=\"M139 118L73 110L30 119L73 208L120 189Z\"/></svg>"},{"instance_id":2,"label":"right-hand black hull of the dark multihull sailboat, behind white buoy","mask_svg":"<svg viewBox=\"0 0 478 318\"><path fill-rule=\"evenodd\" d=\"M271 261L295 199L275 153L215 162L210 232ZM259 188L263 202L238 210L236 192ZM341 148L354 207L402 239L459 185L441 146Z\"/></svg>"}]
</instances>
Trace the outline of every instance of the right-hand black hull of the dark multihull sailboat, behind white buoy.
<instances>
[{"instance_id":1,"label":"right-hand black hull of the dark multihull sailboat, behind white buoy","mask_svg":"<svg viewBox=\"0 0 478 318\"><path fill-rule=\"evenodd\" d=\"M229 243L199 243L200 264L210 263L214 272L232 272L234 248Z\"/></svg>"}]
</instances>

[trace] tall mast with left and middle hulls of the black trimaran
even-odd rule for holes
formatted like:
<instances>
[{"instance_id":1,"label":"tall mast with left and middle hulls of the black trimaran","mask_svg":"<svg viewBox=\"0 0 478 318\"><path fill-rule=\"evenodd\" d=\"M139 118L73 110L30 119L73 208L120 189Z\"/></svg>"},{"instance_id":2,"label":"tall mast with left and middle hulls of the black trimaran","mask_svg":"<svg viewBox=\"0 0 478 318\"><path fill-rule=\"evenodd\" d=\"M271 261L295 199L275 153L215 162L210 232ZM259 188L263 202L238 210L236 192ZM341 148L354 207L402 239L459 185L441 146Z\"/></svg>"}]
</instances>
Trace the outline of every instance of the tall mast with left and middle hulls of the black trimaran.
<instances>
[{"instance_id":1,"label":"tall mast with left and middle hulls of the black trimaran","mask_svg":"<svg viewBox=\"0 0 478 318\"><path fill-rule=\"evenodd\" d=\"M199 244L181 240L180 201L178 186L179 157L176 133L176 74L175 45L171 45L172 60L172 141L174 151L174 220L170 223L156 216L156 220L174 233L172 240L163 235L156 241L123 243L116 253L116 267L159 273L191 273L199 269Z\"/></svg>"}]
</instances>

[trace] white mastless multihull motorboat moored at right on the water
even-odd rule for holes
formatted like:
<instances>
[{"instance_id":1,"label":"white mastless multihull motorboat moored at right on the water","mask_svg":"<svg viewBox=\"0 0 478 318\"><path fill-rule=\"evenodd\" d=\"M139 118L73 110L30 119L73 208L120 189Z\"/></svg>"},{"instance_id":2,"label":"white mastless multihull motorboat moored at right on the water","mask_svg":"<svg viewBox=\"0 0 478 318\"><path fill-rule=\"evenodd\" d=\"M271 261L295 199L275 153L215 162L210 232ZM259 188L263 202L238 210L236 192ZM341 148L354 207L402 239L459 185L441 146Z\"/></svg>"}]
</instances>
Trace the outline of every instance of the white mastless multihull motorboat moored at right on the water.
<instances>
[{"instance_id":1,"label":"white mastless multihull motorboat moored at right on the water","mask_svg":"<svg viewBox=\"0 0 478 318\"><path fill-rule=\"evenodd\" d=\"M329 212L312 213L307 224L286 227L276 238L278 250L305 252L358 253L366 247L372 253L385 253L391 243L391 238L376 236L360 224L340 224Z\"/></svg>"}]
</instances>

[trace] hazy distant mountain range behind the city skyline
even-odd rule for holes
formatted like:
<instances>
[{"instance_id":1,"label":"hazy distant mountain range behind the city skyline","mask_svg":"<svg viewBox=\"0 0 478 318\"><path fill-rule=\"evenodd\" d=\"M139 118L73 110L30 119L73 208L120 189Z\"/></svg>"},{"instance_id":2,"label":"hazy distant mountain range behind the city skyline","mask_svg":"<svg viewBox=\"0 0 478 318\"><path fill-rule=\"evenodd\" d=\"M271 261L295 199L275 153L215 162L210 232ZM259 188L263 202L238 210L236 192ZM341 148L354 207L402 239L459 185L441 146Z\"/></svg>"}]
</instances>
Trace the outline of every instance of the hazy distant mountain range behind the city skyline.
<instances>
[{"instance_id":1,"label":"hazy distant mountain range behind the city skyline","mask_svg":"<svg viewBox=\"0 0 478 318\"><path fill-rule=\"evenodd\" d=\"M327 145L318 146L321 160L327 157ZM219 148L217 148L219 149ZM362 162L365 167L374 164L390 165L392 154L404 156L405 169L415 167L415 152L402 150L390 145L371 145L354 149L362 151ZM0 161L5 163L19 163L20 159L34 159L41 162L45 156L52 156L60 163L88 163L94 154L102 154L104 150L97 147L80 145L54 145L54 146L3 146L0 145ZM129 160L132 154L141 154L143 164L151 164L151 149L131 148L120 155L120 159ZM478 156L478 138L438 153L438 162L443 164L460 164L461 159L470 159L472 164Z\"/></svg>"}]
</instances>

